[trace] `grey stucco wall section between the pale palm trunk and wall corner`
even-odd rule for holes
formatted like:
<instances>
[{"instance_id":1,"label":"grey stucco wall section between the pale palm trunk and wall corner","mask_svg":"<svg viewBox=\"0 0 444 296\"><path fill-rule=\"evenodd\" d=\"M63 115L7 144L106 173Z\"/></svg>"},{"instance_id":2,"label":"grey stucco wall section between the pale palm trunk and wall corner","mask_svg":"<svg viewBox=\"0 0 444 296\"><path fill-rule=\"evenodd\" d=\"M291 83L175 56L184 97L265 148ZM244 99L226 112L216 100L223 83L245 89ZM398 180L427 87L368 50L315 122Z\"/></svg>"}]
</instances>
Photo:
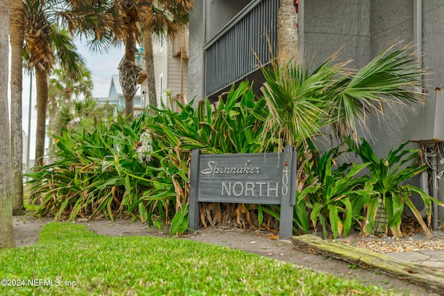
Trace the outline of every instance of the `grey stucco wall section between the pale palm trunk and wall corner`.
<instances>
[{"instance_id":1,"label":"grey stucco wall section between the pale palm trunk and wall corner","mask_svg":"<svg viewBox=\"0 0 444 296\"><path fill-rule=\"evenodd\" d=\"M354 60L351 67L369 61L370 0L304 1L304 55L321 64L341 49L339 60Z\"/></svg>"}]
</instances>

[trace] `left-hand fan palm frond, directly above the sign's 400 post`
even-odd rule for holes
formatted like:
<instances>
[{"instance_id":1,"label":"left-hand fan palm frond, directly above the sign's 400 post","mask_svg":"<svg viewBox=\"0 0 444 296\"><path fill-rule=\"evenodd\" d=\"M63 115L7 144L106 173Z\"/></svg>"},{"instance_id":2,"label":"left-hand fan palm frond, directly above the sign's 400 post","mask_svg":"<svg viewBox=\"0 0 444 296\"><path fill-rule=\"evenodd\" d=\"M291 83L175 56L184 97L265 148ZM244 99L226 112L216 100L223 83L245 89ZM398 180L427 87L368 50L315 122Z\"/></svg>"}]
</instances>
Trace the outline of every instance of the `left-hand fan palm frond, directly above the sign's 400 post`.
<instances>
[{"instance_id":1,"label":"left-hand fan palm frond, directly above the sign's 400 post","mask_svg":"<svg viewBox=\"0 0 444 296\"><path fill-rule=\"evenodd\" d=\"M270 115L266 130L278 130L287 144L306 144L330 124L327 98L346 63L334 64L336 53L310 73L302 64L289 62L262 68L266 83L262 93Z\"/></svg>"}]
</instances>

